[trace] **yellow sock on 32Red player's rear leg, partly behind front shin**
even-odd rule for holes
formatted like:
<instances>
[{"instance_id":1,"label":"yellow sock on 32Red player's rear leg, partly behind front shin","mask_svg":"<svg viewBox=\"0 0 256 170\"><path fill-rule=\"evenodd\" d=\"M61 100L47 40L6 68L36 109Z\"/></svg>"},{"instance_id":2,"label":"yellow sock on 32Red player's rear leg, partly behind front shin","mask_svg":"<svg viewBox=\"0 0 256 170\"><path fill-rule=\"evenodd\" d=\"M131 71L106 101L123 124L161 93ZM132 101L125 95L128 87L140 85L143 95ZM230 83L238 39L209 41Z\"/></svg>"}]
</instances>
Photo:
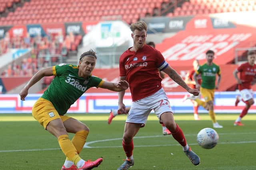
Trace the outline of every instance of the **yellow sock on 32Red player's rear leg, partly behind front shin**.
<instances>
[{"instance_id":1,"label":"yellow sock on 32Red player's rear leg, partly behind front shin","mask_svg":"<svg viewBox=\"0 0 256 170\"><path fill-rule=\"evenodd\" d=\"M73 143L74 147L76 148L78 154L83 149L88 134L89 134L89 131L78 131L74 135L74 137L72 139L72 143ZM66 160L71 160L71 159L66 157Z\"/></svg>"}]
</instances>

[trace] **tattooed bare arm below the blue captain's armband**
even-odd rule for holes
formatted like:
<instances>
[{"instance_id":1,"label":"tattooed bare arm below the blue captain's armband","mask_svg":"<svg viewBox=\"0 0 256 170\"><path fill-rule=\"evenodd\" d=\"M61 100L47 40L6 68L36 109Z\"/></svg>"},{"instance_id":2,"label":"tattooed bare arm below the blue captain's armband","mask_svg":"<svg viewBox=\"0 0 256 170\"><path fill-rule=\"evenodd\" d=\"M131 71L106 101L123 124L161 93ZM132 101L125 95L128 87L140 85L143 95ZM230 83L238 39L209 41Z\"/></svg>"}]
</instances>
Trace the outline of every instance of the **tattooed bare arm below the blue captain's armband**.
<instances>
[{"instance_id":1,"label":"tattooed bare arm below the blue captain's armband","mask_svg":"<svg viewBox=\"0 0 256 170\"><path fill-rule=\"evenodd\" d=\"M174 69L172 69L170 66L167 66L163 71L166 74L168 74L170 76L170 78L172 78L172 80L174 80L174 82L178 83L180 86L182 86L184 89L186 89L189 93L193 94L194 96L199 95L199 91L197 89L190 88L184 82L184 80L181 78L181 76Z\"/></svg>"}]
</instances>

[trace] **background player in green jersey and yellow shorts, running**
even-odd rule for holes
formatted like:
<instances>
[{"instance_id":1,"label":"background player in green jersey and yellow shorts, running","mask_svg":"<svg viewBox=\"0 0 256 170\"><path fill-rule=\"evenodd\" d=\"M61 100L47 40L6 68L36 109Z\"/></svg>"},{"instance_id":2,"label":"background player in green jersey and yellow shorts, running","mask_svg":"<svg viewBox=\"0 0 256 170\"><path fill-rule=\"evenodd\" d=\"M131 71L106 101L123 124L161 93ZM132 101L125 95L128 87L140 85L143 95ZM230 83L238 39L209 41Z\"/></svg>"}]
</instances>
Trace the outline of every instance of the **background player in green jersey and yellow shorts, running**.
<instances>
[{"instance_id":1,"label":"background player in green jersey and yellow shorts, running","mask_svg":"<svg viewBox=\"0 0 256 170\"><path fill-rule=\"evenodd\" d=\"M217 64L214 64L212 61L214 59L214 51L208 50L206 52L206 60L207 62L202 66L199 66L198 70L194 73L194 80L196 82L196 88L200 88L200 92L205 101L200 100L199 98L195 98L191 96L193 100L195 100L200 106L207 108L209 110L209 115L213 122L214 128L222 128L222 125L219 125L215 118L214 113L214 90L219 88L221 74L220 67ZM202 76L202 84L198 83L198 74ZM216 74L218 75L218 82L215 85Z\"/></svg>"}]
</instances>

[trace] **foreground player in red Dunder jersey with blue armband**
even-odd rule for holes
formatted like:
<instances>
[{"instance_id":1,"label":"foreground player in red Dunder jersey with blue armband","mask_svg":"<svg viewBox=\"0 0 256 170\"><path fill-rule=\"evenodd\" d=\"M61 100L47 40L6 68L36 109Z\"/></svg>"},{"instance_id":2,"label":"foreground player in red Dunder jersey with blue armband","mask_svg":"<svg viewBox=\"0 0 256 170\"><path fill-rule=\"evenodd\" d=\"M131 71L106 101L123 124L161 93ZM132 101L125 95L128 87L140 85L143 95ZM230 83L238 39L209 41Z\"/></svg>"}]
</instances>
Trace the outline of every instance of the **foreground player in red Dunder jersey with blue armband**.
<instances>
[{"instance_id":1,"label":"foreground player in red Dunder jersey with blue armband","mask_svg":"<svg viewBox=\"0 0 256 170\"><path fill-rule=\"evenodd\" d=\"M130 25L132 31L133 47L126 50L119 59L120 80L127 80L132 95L132 105L124 126L122 146L126 154L126 160L118 170L128 169L134 165L133 137L141 127L144 127L149 113L154 109L160 123L170 130L172 136L183 147L186 156L194 165L200 163L200 158L186 143L182 129L174 121L169 100L161 85L158 70L165 72L186 89L189 93L198 96L198 89L190 88L180 75L172 69L164 60L160 51L146 45L147 25L144 21L138 21ZM118 108L125 111L123 103L125 91L118 92Z\"/></svg>"}]
</instances>

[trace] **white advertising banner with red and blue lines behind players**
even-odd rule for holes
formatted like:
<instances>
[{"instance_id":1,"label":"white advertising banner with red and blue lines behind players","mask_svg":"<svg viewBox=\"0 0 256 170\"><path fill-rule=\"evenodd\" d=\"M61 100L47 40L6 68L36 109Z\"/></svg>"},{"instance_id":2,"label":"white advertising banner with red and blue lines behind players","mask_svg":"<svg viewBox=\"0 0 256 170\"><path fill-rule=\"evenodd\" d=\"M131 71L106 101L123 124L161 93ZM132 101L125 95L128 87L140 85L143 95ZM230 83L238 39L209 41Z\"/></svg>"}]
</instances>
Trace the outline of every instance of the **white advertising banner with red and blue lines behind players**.
<instances>
[{"instance_id":1,"label":"white advertising banner with red and blue lines behind players","mask_svg":"<svg viewBox=\"0 0 256 170\"><path fill-rule=\"evenodd\" d=\"M168 98L174 113L192 113L193 107L190 100L183 101L186 92L168 92ZM240 113L245 104L241 101L234 106L238 92L216 92L215 112L216 113ZM42 94L30 94L25 101L20 100L18 94L0 95L0 113L31 113L32 106ZM255 93L254 93L255 98ZM255 100L255 99L254 99ZM127 93L124 96L124 104L130 106L131 96ZM68 113L109 113L110 109L118 108L117 93L88 93L82 95L68 110ZM200 113L207 113L204 108L199 108ZM256 113L256 106L252 106L249 113Z\"/></svg>"}]
</instances>

